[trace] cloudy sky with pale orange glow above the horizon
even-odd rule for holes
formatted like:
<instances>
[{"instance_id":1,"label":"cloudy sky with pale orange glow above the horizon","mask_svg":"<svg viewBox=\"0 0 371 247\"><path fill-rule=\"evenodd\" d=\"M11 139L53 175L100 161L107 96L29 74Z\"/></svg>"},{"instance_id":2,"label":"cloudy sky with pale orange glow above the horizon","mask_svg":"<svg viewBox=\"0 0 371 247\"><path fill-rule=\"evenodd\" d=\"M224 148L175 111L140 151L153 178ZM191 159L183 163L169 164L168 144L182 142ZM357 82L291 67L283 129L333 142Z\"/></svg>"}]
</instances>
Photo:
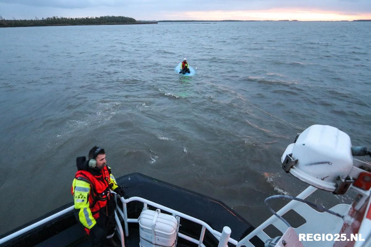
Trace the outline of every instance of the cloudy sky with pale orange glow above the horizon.
<instances>
[{"instance_id":1,"label":"cloudy sky with pale orange glow above the horizon","mask_svg":"<svg viewBox=\"0 0 371 247\"><path fill-rule=\"evenodd\" d=\"M371 0L0 0L4 19L128 16L136 20L371 19Z\"/></svg>"}]
</instances>

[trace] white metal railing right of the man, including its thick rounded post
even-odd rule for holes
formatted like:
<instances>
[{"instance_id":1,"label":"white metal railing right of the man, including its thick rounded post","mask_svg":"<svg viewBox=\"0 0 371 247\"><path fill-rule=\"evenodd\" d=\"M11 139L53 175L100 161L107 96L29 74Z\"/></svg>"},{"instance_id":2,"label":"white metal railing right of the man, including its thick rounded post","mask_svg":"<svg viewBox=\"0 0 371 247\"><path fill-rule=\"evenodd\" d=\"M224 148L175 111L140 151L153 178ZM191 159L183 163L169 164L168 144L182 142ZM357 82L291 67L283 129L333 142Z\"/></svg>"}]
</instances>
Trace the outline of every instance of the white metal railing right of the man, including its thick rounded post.
<instances>
[{"instance_id":1,"label":"white metal railing right of the man, including its thick rounded post","mask_svg":"<svg viewBox=\"0 0 371 247\"><path fill-rule=\"evenodd\" d=\"M219 231L216 231L213 228L211 228L209 226L209 224L205 223L202 220L199 220L199 219L194 218L192 216L189 216L187 214L184 214L184 213L181 213L179 211L173 210L171 208L162 206L162 205L160 205L158 203L154 203L153 201L149 201L149 200L146 200L146 199L141 198L141 197L130 197L128 199L124 199L124 198L121 197L121 202L122 202L123 210L121 210L119 207L116 207L116 209L118 210L119 214L124 219L125 235L127 237L129 236L128 223L139 223L139 219L138 218L128 218L128 214L127 214L127 203L129 203L131 201L142 202L143 203L143 208L147 208L147 206L150 205L152 207L159 208L160 210L167 211L168 213L173 214L173 216L178 216L180 218L184 218L186 220L190 220L190 221L192 221L194 223L197 223L197 224L201 225L202 228L201 228L200 238L199 239L196 239L196 238L187 236L187 235L182 234L182 233L178 233L178 236L179 237L184 238L185 240L188 240L188 241L190 241L192 243L198 244L198 247L205 247L205 245L203 244L203 240L204 240L204 235L205 235L205 230L206 229L211 234L213 234L213 236L219 241L218 247L226 247L228 242L229 243L232 243L234 245L237 245L237 243L238 243L237 240L234 240L233 238L229 237L230 234L231 234L231 229L229 227L227 227L227 226L224 227L223 228L223 231L220 233Z\"/></svg>"}]
</instances>

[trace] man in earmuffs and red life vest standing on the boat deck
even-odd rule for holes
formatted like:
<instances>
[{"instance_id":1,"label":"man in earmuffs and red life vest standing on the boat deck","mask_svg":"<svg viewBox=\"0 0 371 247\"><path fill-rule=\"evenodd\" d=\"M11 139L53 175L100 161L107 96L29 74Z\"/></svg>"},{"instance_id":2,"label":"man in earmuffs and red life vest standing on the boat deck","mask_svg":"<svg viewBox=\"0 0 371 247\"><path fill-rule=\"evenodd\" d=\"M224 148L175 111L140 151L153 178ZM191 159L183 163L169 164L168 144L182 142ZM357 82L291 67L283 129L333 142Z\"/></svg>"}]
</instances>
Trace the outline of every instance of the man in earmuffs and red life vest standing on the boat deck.
<instances>
[{"instance_id":1,"label":"man in earmuffs and red life vest standing on the boat deck","mask_svg":"<svg viewBox=\"0 0 371 247\"><path fill-rule=\"evenodd\" d=\"M104 149L94 146L89 151L89 160L85 156L76 158L78 171L72 182L74 213L89 234L93 247L121 246L114 238L116 203L110 190L119 196L125 193L106 162Z\"/></svg>"}]
</instances>

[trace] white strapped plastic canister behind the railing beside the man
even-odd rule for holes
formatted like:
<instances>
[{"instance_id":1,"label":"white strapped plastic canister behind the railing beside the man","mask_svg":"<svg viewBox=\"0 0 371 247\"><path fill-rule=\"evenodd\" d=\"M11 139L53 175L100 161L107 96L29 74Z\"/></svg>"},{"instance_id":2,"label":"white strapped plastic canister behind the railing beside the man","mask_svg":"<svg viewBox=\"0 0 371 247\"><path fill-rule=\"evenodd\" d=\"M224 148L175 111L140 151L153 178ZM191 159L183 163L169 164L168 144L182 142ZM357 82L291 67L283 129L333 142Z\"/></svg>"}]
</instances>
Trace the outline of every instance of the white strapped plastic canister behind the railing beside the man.
<instances>
[{"instance_id":1,"label":"white strapped plastic canister behind the railing beside the man","mask_svg":"<svg viewBox=\"0 0 371 247\"><path fill-rule=\"evenodd\" d=\"M140 247L175 247L178 221L169 214L144 210L139 216Z\"/></svg>"}]
</instances>

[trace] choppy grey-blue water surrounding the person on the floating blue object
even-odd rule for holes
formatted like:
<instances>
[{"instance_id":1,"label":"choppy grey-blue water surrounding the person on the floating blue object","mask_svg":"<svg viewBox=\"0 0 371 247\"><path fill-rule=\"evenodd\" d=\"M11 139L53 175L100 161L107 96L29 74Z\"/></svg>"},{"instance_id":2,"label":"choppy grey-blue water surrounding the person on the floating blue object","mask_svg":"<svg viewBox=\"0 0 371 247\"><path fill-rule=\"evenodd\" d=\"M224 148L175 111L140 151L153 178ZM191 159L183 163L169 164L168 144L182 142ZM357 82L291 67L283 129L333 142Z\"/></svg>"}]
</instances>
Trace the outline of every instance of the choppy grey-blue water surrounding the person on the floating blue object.
<instances>
[{"instance_id":1,"label":"choppy grey-blue water surrounding the person on the floating blue object","mask_svg":"<svg viewBox=\"0 0 371 247\"><path fill-rule=\"evenodd\" d=\"M94 145L116 177L139 172L206 194L257 226L270 215L266 197L306 187L280 167L296 133L327 124L371 147L370 30L371 22L0 29L0 233L72 201L75 158ZM193 76L174 69L184 57Z\"/></svg>"}]
</instances>

